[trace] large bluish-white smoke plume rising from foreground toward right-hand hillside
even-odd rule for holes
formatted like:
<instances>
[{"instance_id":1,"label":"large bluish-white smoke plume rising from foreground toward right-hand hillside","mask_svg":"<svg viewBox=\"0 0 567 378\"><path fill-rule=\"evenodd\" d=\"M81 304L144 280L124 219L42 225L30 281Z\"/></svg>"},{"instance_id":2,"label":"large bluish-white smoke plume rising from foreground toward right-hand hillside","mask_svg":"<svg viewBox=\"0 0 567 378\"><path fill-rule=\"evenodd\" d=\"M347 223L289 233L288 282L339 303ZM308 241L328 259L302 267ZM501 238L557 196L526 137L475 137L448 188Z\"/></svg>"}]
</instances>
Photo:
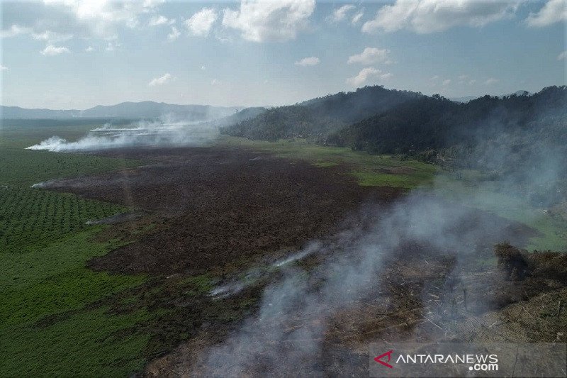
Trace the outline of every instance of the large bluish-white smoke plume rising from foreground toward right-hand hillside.
<instances>
[{"instance_id":1,"label":"large bluish-white smoke plume rising from foreground toward right-hand hillside","mask_svg":"<svg viewBox=\"0 0 567 378\"><path fill-rule=\"evenodd\" d=\"M505 140L479 136L472 157L468 157L489 167L495 172L493 177L472 188L458 187L449 196L446 183L439 180L432 189L413 191L388 209L364 209L361 219L351 223L357 226L345 228L330 240L310 243L305 255L320 255L322 264L312 272L284 267L283 278L264 289L257 314L247 318L224 343L210 348L193 373L207 377L323 374L320 363L333 316L359 306L361 299L379 291L393 258L404 260L416 249L434 251L456 260L447 273L461 279L462 261L481 254L490 257L493 244L506 240L523 247L534 231L523 228L516 232L515 226L495 214L510 211L503 209L510 188L529 187L529 191L515 192L540 196L535 203L531 201L539 209L529 216L541 216L541 206L564 201L566 155L555 143L534 138L532 131L501 135ZM533 141L533 148L517 148L527 140ZM522 206L527 206L526 202ZM522 221L529 223L527 218ZM232 294L223 291L227 293ZM420 295L425 296L417 293ZM490 306L487 298L474 301L468 304L469 309ZM445 311L444 306L448 304L437 311Z\"/></svg>"}]
</instances>

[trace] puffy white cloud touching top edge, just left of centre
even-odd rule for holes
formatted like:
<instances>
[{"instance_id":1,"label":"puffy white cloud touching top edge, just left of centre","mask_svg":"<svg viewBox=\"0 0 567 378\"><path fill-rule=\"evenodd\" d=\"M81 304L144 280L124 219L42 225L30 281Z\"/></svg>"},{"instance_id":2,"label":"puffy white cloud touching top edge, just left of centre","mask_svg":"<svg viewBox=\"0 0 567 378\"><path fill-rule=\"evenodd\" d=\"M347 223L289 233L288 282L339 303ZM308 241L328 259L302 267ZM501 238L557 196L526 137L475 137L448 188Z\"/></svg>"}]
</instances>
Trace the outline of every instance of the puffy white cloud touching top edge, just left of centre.
<instances>
[{"instance_id":1,"label":"puffy white cloud touching top edge, just left of centre","mask_svg":"<svg viewBox=\"0 0 567 378\"><path fill-rule=\"evenodd\" d=\"M252 42L292 40L308 27L314 10L315 0L242 0L237 11L223 11L223 26Z\"/></svg>"}]
</instances>

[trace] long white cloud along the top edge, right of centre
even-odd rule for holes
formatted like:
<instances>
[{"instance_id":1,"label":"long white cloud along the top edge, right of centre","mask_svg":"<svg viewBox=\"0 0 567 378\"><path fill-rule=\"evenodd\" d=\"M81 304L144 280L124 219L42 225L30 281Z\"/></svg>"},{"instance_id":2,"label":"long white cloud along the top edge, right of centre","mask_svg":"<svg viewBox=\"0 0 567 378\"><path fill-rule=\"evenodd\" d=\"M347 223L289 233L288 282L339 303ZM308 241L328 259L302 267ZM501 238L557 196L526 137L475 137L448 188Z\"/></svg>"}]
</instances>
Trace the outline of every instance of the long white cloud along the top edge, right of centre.
<instances>
[{"instance_id":1,"label":"long white cloud along the top edge, right of centre","mask_svg":"<svg viewBox=\"0 0 567 378\"><path fill-rule=\"evenodd\" d=\"M401 29L434 33L454 26L485 26L510 16L519 0L396 0L362 26L364 33Z\"/></svg>"}]
</instances>

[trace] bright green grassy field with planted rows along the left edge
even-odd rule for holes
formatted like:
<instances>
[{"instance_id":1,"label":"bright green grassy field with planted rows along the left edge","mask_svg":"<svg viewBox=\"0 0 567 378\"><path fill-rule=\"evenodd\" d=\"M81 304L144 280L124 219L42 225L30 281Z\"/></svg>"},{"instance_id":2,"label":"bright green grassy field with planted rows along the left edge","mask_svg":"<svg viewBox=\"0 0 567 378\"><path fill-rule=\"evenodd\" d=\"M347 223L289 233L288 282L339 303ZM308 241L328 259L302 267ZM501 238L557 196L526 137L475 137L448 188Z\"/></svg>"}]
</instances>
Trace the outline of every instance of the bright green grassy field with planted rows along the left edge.
<instances>
[{"instance_id":1,"label":"bright green grassy field with planted rows along the left edge","mask_svg":"<svg viewBox=\"0 0 567 378\"><path fill-rule=\"evenodd\" d=\"M85 225L126 209L29 187L140 162L24 150L54 134L79 138L92 127L32 126L0 130L0 376L128 375L144 364L150 335L124 331L150 315L143 308L113 314L95 304L146 278L86 269L91 257L125 240L97 242L104 227Z\"/></svg>"}]
</instances>

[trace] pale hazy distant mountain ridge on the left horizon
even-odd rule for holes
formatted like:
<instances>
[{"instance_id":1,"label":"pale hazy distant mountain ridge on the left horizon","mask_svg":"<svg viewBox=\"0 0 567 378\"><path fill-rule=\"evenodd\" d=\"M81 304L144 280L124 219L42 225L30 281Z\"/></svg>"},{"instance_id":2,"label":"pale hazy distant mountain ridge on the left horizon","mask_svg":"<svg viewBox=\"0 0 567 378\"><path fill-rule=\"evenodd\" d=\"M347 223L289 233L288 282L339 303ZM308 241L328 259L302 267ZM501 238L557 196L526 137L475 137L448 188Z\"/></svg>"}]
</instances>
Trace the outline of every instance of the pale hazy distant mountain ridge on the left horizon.
<instances>
[{"instance_id":1,"label":"pale hazy distant mountain ridge on the left horizon","mask_svg":"<svg viewBox=\"0 0 567 378\"><path fill-rule=\"evenodd\" d=\"M241 106L176 105L164 102L122 102L110 106L94 106L86 110L25 109L19 106L0 106L1 118L160 118L169 116L184 121L210 121L232 116L244 109Z\"/></svg>"}]
</instances>

